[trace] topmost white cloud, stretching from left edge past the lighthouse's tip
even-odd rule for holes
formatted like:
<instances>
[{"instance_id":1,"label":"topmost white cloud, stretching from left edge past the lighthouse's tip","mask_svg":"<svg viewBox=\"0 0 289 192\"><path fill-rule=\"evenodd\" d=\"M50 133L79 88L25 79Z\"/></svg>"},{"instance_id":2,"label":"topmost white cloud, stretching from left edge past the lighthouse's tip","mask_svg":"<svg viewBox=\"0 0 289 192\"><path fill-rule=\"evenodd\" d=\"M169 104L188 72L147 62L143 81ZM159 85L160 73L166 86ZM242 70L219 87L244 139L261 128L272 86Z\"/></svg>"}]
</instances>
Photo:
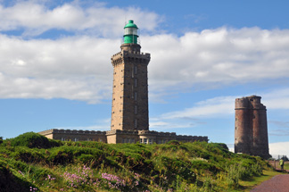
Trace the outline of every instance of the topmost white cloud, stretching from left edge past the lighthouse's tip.
<instances>
[{"instance_id":1,"label":"topmost white cloud, stretching from left edge past the lighthouse's tip","mask_svg":"<svg viewBox=\"0 0 289 192\"><path fill-rule=\"evenodd\" d=\"M49 29L64 29L95 36L119 37L127 17L133 18L142 29L148 31L153 31L161 21L158 14L135 7L108 8L96 3L84 8L81 2L74 1L49 9L37 1L17 1L8 7L0 5L0 30L24 29L23 35L37 36Z\"/></svg>"}]
</instances>

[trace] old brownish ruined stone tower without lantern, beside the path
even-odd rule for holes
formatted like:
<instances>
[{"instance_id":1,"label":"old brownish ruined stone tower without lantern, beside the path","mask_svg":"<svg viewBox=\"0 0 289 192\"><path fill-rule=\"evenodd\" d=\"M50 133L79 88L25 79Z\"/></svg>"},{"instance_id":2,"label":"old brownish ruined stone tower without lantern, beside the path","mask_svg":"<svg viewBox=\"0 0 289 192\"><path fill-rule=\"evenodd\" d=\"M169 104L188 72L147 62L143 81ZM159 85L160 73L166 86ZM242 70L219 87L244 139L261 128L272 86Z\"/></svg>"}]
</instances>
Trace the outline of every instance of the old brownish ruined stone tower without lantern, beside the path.
<instances>
[{"instance_id":1,"label":"old brownish ruined stone tower without lantern, beside the path","mask_svg":"<svg viewBox=\"0 0 289 192\"><path fill-rule=\"evenodd\" d=\"M235 153L258 155L265 159L268 154L268 129L266 106L260 96L235 99Z\"/></svg>"}]
</instances>

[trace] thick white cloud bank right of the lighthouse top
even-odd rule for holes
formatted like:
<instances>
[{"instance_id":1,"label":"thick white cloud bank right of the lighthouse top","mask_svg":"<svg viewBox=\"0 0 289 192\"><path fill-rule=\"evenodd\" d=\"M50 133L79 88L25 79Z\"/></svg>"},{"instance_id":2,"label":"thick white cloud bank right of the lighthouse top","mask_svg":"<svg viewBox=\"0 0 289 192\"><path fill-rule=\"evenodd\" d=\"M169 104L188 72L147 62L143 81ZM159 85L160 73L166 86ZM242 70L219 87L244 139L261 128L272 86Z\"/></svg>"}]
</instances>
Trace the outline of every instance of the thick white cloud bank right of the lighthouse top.
<instances>
[{"instance_id":1,"label":"thick white cloud bank right of the lighthouse top","mask_svg":"<svg viewBox=\"0 0 289 192\"><path fill-rule=\"evenodd\" d=\"M288 78L289 30L206 29L143 37L155 89ZM156 86L159 85L159 86Z\"/></svg>"}]
</instances>

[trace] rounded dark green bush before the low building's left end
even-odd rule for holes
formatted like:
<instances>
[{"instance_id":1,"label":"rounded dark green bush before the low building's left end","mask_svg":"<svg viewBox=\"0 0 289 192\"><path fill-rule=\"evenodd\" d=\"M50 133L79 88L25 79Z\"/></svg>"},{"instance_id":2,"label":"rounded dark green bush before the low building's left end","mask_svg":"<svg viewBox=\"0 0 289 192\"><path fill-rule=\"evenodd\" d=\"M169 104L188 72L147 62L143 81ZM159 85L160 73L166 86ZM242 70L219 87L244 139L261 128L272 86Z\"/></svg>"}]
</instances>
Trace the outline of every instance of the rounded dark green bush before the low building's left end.
<instances>
[{"instance_id":1,"label":"rounded dark green bush before the low building's left end","mask_svg":"<svg viewBox=\"0 0 289 192\"><path fill-rule=\"evenodd\" d=\"M51 148L54 146L60 146L57 141L45 138L44 136L27 132L16 138L11 139L11 146L28 146L29 148Z\"/></svg>"}]
</instances>

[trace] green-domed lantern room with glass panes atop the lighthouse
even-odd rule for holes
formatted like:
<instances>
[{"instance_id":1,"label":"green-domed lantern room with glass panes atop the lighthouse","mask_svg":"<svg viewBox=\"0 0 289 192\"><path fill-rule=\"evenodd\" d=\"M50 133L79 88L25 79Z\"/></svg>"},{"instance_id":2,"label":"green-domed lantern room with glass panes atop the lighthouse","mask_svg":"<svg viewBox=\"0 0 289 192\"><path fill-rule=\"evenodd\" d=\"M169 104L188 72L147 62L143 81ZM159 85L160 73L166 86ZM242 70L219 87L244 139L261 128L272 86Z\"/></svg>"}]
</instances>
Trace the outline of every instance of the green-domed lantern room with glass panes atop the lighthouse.
<instances>
[{"instance_id":1,"label":"green-domed lantern room with glass panes atop the lighthouse","mask_svg":"<svg viewBox=\"0 0 289 192\"><path fill-rule=\"evenodd\" d=\"M129 20L128 24L124 27L125 33L123 36L123 43L124 44L137 44L137 26L134 21Z\"/></svg>"}]
</instances>

